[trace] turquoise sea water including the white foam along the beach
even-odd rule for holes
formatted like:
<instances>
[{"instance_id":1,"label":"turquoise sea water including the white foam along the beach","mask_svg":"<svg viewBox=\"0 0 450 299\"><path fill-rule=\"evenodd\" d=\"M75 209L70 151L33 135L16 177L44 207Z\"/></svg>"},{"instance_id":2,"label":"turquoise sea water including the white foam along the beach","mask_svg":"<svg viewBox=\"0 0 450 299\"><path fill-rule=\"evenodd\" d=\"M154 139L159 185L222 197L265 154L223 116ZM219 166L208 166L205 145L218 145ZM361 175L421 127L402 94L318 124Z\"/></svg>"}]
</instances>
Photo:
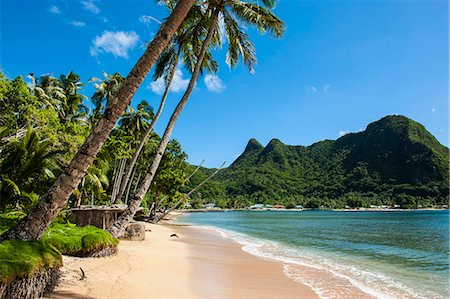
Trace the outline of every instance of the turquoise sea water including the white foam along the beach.
<instances>
[{"instance_id":1,"label":"turquoise sea water including the white foam along the beach","mask_svg":"<svg viewBox=\"0 0 450 299\"><path fill-rule=\"evenodd\" d=\"M322 298L450 298L448 211L214 212L177 221L283 263Z\"/></svg>"}]
</instances>

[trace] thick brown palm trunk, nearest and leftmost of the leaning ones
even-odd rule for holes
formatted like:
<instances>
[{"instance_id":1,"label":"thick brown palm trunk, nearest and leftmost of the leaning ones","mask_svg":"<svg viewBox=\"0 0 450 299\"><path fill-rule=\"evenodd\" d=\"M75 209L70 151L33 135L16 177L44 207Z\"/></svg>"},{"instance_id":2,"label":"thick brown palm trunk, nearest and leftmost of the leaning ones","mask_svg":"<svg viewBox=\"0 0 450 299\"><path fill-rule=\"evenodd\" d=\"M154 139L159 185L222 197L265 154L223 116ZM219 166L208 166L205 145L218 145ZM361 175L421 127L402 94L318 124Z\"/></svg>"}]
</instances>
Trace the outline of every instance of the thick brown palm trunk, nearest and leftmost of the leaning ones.
<instances>
[{"instance_id":1,"label":"thick brown palm trunk, nearest and leftmost of the leaning ones","mask_svg":"<svg viewBox=\"0 0 450 299\"><path fill-rule=\"evenodd\" d=\"M167 21L161 26L155 38L147 47L144 55L138 60L120 90L106 107L104 115L92 129L69 166L41 198L36 208L16 226L4 233L0 240L36 240L43 236L59 211L67 205L70 195L86 174L88 167L94 161L117 120L130 103L159 55L172 39L194 2L195 0L181 0L177 3Z\"/></svg>"}]
</instances>

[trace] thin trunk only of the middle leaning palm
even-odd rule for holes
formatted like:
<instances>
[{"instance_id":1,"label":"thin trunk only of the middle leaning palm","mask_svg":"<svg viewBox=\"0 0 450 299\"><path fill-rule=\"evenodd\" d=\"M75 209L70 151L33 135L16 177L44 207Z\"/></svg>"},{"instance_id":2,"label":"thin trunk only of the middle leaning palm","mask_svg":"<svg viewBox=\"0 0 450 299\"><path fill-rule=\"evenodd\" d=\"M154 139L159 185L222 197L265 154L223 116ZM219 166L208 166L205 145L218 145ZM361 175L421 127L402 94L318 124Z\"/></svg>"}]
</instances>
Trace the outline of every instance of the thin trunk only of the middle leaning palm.
<instances>
[{"instance_id":1,"label":"thin trunk only of the middle leaning palm","mask_svg":"<svg viewBox=\"0 0 450 299\"><path fill-rule=\"evenodd\" d=\"M142 149L144 148L145 143L147 142L148 138L150 138L150 134L153 132L153 128L155 127L156 122L158 121L159 116L162 113L162 110L164 109L164 104L166 103L167 96L169 95L170 86L172 85L173 77L175 75L175 70L177 68L178 59L180 57L180 49L178 49L177 52L177 58L175 65L173 67L173 70L170 74L169 82L167 82L166 90L164 90L163 97L161 99L161 103L159 104L158 112L156 113L155 117L152 119L152 122L150 123L150 126L145 131L144 137L142 137L141 142L139 143L138 148L136 149L136 152L133 154L133 157L131 159L130 165L128 166L125 177L122 180L122 184L120 185L119 193L117 194L114 203L117 203L123 196L123 193L125 192L126 186L128 184L128 181L130 180L131 173L133 172L134 165L136 165L137 160L139 159L139 156L141 154Z\"/></svg>"}]
</instances>

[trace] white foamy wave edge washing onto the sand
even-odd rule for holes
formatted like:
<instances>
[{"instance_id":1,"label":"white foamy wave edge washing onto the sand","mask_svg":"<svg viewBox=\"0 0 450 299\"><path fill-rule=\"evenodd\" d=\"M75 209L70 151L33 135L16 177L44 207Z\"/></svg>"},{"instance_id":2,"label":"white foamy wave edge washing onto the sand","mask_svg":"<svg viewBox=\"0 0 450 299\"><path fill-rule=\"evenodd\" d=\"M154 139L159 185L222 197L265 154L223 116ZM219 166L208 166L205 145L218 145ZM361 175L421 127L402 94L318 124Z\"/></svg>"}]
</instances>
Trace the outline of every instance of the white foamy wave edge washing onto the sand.
<instances>
[{"instance_id":1,"label":"white foamy wave edge washing onto the sand","mask_svg":"<svg viewBox=\"0 0 450 299\"><path fill-rule=\"evenodd\" d=\"M287 277L311 287L320 298L443 298L429 292L420 294L389 275L358 266L355 260L344 264L342 259L276 241L214 226L193 227L233 240L249 254L282 263Z\"/></svg>"}]
</instances>

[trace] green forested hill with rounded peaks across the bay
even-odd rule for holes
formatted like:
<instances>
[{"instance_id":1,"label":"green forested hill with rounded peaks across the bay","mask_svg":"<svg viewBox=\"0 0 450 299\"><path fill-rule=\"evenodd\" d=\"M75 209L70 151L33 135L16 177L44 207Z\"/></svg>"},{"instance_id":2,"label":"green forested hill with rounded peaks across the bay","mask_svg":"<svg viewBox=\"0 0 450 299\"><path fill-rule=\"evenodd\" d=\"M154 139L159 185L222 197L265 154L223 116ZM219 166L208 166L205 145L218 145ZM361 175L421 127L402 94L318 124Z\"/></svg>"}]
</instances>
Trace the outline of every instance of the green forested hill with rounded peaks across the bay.
<instances>
[{"instance_id":1,"label":"green forested hill with rounded peaks across the bay","mask_svg":"<svg viewBox=\"0 0 450 299\"><path fill-rule=\"evenodd\" d=\"M211 171L202 168L190 185ZM421 124L393 115L369 124L365 131L310 146L272 139L264 147L251 139L191 204L426 207L447 204L448 177L448 148Z\"/></svg>"}]
</instances>

